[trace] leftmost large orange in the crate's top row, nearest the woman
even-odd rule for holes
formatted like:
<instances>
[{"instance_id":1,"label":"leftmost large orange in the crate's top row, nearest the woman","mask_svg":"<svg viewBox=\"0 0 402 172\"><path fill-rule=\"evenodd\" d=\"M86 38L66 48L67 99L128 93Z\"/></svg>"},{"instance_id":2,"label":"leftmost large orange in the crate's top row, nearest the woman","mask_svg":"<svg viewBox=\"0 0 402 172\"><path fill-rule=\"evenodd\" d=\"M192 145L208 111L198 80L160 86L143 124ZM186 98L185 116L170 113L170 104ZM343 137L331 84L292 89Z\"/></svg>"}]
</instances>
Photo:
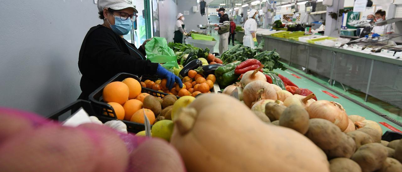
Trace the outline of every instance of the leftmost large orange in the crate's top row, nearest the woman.
<instances>
[{"instance_id":1,"label":"leftmost large orange in the crate's top row, nearest the woman","mask_svg":"<svg viewBox=\"0 0 402 172\"><path fill-rule=\"evenodd\" d=\"M103 88L103 100L105 102L117 102L123 104L128 100L130 89L123 82L111 82Z\"/></svg>"}]
</instances>

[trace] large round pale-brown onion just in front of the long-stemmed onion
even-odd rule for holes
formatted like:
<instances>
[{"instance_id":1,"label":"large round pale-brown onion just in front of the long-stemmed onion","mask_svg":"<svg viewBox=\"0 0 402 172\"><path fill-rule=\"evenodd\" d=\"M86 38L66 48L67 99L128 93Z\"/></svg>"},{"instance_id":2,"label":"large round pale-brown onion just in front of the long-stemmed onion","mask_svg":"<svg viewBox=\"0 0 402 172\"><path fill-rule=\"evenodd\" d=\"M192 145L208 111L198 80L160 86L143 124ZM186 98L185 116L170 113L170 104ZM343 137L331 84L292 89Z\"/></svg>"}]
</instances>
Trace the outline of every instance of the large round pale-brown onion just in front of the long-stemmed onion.
<instances>
[{"instance_id":1,"label":"large round pale-brown onion just in front of the long-stemmed onion","mask_svg":"<svg viewBox=\"0 0 402 172\"><path fill-rule=\"evenodd\" d=\"M244 87L243 101L249 108L254 102L263 99L278 99L275 89L267 81L256 80Z\"/></svg>"}]
</instances>

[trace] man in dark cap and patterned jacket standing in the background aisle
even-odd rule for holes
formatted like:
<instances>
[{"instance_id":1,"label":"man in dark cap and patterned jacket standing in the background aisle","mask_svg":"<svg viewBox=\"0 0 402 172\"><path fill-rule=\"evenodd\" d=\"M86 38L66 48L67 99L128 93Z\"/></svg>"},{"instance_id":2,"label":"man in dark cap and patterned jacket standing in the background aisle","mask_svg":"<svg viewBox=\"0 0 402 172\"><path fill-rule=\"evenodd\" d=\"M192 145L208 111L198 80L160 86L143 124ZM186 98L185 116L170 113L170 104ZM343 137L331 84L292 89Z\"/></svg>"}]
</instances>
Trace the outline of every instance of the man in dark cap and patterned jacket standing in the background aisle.
<instances>
[{"instance_id":1,"label":"man in dark cap and patterned jacket standing in the background aisle","mask_svg":"<svg viewBox=\"0 0 402 172\"><path fill-rule=\"evenodd\" d=\"M230 22L229 15L225 14L225 8L219 8L218 12L221 17L219 18L219 25L215 24L215 31L218 31L219 34L219 53L222 54L228 51Z\"/></svg>"}]
</instances>

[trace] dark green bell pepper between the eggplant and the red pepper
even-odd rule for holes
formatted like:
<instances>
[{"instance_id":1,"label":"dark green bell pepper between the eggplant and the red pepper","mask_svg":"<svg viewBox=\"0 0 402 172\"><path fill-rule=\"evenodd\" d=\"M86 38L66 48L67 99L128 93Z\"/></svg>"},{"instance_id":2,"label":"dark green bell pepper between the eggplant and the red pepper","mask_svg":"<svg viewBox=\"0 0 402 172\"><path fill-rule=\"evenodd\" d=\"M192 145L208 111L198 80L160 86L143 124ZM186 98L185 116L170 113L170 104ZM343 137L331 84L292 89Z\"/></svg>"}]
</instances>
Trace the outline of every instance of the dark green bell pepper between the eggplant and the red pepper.
<instances>
[{"instance_id":1,"label":"dark green bell pepper between the eggplant and the red pepper","mask_svg":"<svg viewBox=\"0 0 402 172\"><path fill-rule=\"evenodd\" d=\"M228 63L227 65L221 66L215 70L215 77L219 86L229 86L239 78L240 75L236 75L234 70L240 63L241 61L234 61L233 63Z\"/></svg>"}]
</instances>

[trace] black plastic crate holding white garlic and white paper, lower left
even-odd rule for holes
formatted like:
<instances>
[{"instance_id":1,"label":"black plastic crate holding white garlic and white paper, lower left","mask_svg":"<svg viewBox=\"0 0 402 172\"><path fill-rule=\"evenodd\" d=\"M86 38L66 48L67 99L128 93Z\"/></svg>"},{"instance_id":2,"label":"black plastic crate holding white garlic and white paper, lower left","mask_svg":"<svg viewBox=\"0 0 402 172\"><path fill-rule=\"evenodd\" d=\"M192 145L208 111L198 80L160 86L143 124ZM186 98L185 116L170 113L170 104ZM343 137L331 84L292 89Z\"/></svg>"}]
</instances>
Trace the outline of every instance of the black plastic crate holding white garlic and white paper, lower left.
<instances>
[{"instance_id":1,"label":"black plastic crate holding white garlic and white paper, lower left","mask_svg":"<svg viewBox=\"0 0 402 172\"><path fill-rule=\"evenodd\" d=\"M96 116L89 101L76 100L75 102L63 107L61 110L48 115L46 118L59 122L66 121L66 119L76 113L80 108L84 109L88 115Z\"/></svg>"}]
</instances>

